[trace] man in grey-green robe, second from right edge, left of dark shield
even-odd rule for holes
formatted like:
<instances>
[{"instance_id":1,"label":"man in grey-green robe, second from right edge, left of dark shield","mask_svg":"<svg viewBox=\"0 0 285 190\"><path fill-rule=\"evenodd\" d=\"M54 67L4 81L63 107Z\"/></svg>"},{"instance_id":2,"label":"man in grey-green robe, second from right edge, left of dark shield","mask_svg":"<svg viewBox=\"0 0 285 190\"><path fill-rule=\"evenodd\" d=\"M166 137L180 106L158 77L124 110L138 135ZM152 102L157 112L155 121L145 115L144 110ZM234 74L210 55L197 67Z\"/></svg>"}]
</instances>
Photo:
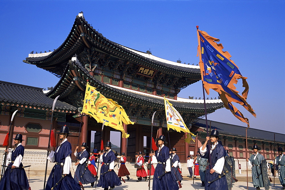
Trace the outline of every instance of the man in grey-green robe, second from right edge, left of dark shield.
<instances>
[{"instance_id":1,"label":"man in grey-green robe, second from right edge, left of dark shield","mask_svg":"<svg viewBox=\"0 0 285 190\"><path fill-rule=\"evenodd\" d=\"M258 150L260 150L260 148L258 148L257 145L254 145L252 149L254 154L251 155L251 157L246 160L249 166L252 165L251 174L252 174L253 187L256 187L256 189L259 190L260 187L264 187L262 171L261 171L261 161L264 160L265 158L260 153L258 153Z\"/></svg>"}]
</instances>

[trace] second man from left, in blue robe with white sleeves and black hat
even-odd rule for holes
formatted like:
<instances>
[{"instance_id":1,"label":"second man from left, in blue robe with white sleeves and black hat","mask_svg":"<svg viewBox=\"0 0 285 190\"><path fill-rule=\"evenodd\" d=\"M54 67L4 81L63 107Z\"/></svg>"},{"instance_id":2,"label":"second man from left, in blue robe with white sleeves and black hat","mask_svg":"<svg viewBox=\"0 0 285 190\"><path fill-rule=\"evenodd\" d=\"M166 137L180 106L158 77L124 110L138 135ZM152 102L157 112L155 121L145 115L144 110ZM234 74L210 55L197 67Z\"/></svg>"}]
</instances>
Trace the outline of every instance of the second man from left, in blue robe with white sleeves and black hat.
<instances>
[{"instance_id":1,"label":"second man from left, in blue robe with white sleeves and black hat","mask_svg":"<svg viewBox=\"0 0 285 190\"><path fill-rule=\"evenodd\" d=\"M67 141L67 137L70 134L68 126L62 126L58 134L60 134L60 145L56 148L55 152L51 151L47 158L56 164L50 172L45 190L50 190L52 187L54 187L54 185L56 185L56 183L63 176L63 180L58 183L58 185L54 188L55 190L80 190L81 188L78 186L70 173L72 151L71 144Z\"/></svg>"}]
</instances>

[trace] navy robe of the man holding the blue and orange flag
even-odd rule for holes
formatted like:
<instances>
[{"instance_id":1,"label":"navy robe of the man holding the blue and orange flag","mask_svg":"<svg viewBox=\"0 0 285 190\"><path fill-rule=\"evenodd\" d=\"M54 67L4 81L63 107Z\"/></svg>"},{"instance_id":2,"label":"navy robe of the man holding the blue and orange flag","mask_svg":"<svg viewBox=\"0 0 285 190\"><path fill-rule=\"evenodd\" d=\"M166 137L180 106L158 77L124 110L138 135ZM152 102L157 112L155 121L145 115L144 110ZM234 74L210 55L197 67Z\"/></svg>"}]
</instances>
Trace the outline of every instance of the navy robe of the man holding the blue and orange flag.
<instances>
[{"instance_id":1,"label":"navy robe of the man holding the blue and orange flag","mask_svg":"<svg viewBox=\"0 0 285 190\"><path fill-rule=\"evenodd\" d=\"M206 158L209 160L209 146L206 146L207 152L204 155L201 155L201 158ZM212 162L212 168L216 164L217 160L220 159L221 157L225 157L227 152L225 151L223 145L217 144L216 148L212 151L211 153L211 162ZM223 189L227 190L228 185L227 185L227 179L225 176L219 178L218 180L208 183L208 181L211 181L213 179L216 179L219 177L219 173L214 172L213 174L210 174L210 165L207 167L206 172L205 172L205 189L206 190L211 190L211 189ZM222 172L223 173L223 172Z\"/></svg>"}]
</instances>

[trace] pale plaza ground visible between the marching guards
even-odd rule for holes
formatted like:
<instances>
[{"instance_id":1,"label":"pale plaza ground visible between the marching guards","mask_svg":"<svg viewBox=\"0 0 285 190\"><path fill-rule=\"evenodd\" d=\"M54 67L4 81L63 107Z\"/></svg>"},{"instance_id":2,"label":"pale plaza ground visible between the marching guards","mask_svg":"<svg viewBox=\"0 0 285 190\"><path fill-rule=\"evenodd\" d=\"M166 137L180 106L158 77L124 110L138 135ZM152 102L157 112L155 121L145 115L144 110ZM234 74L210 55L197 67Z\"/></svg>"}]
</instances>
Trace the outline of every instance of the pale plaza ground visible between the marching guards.
<instances>
[{"instance_id":1,"label":"pale plaza ground visible between the marching guards","mask_svg":"<svg viewBox=\"0 0 285 190\"><path fill-rule=\"evenodd\" d=\"M182 180L182 188L181 190L189 190L189 189L204 189L204 187L201 187L201 181L199 176L197 176L197 180L194 181L193 184L193 178L189 178L190 176L188 175L187 177L184 176L183 180ZM47 177L48 178L48 177ZM126 177L125 177L126 178ZM237 174L236 178L239 180L238 182L234 183L232 190L239 190L239 189L247 189L247 174L243 173L243 174ZM271 179L273 180L273 177L271 177ZM125 179L126 180L126 179ZM145 182L144 180L141 182L136 182L137 178L131 177L131 179L129 181L126 181L126 183L124 183L122 181L122 185L119 187L115 187L115 189L117 190L122 190L122 189L134 189L134 190L147 190L149 189L148 187L148 181ZM44 176L43 175L32 175L30 176L30 187L32 190L39 190L39 189L43 189L43 185L44 185ZM252 185L252 180L251 180L251 173L249 173L249 190L255 190L256 188L253 187ZM98 189L98 190L102 190L103 188L101 187L90 187L90 184L87 185L83 185L84 189ZM281 189L282 186L280 185L279 179L278 177L275 177L275 187L273 187L273 182L272 185L270 185L270 189ZM150 189L152 189L152 180L150 183ZM264 189L264 188L261 188ZM217 189L218 190L218 189Z\"/></svg>"}]
</instances>

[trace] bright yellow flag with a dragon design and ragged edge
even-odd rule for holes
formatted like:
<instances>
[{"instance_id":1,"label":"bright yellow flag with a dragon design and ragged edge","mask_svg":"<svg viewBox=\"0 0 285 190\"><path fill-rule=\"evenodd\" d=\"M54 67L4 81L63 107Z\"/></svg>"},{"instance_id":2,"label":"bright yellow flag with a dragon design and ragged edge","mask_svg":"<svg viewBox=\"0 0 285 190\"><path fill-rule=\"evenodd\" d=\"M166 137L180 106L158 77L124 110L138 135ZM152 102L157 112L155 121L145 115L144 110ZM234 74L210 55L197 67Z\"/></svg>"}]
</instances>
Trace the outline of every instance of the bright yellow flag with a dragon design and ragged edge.
<instances>
[{"instance_id":1,"label":"bright yellow flag with a dragon design and ragged edge","mask_svg":"<svg viewBox=\"0 0 285 190\"><path fill-rule=\"evenodd\" d=\"M122 138L128 138L130 135L125 133L123 122L125 124L134 124L129 119L124 108L112 99L107 99L100 94L96 88L90 86L87 82L84 104L81 113L92 116L98 123L104 123L116 130L122 132Z\"/></svg>"}]
</instances>

